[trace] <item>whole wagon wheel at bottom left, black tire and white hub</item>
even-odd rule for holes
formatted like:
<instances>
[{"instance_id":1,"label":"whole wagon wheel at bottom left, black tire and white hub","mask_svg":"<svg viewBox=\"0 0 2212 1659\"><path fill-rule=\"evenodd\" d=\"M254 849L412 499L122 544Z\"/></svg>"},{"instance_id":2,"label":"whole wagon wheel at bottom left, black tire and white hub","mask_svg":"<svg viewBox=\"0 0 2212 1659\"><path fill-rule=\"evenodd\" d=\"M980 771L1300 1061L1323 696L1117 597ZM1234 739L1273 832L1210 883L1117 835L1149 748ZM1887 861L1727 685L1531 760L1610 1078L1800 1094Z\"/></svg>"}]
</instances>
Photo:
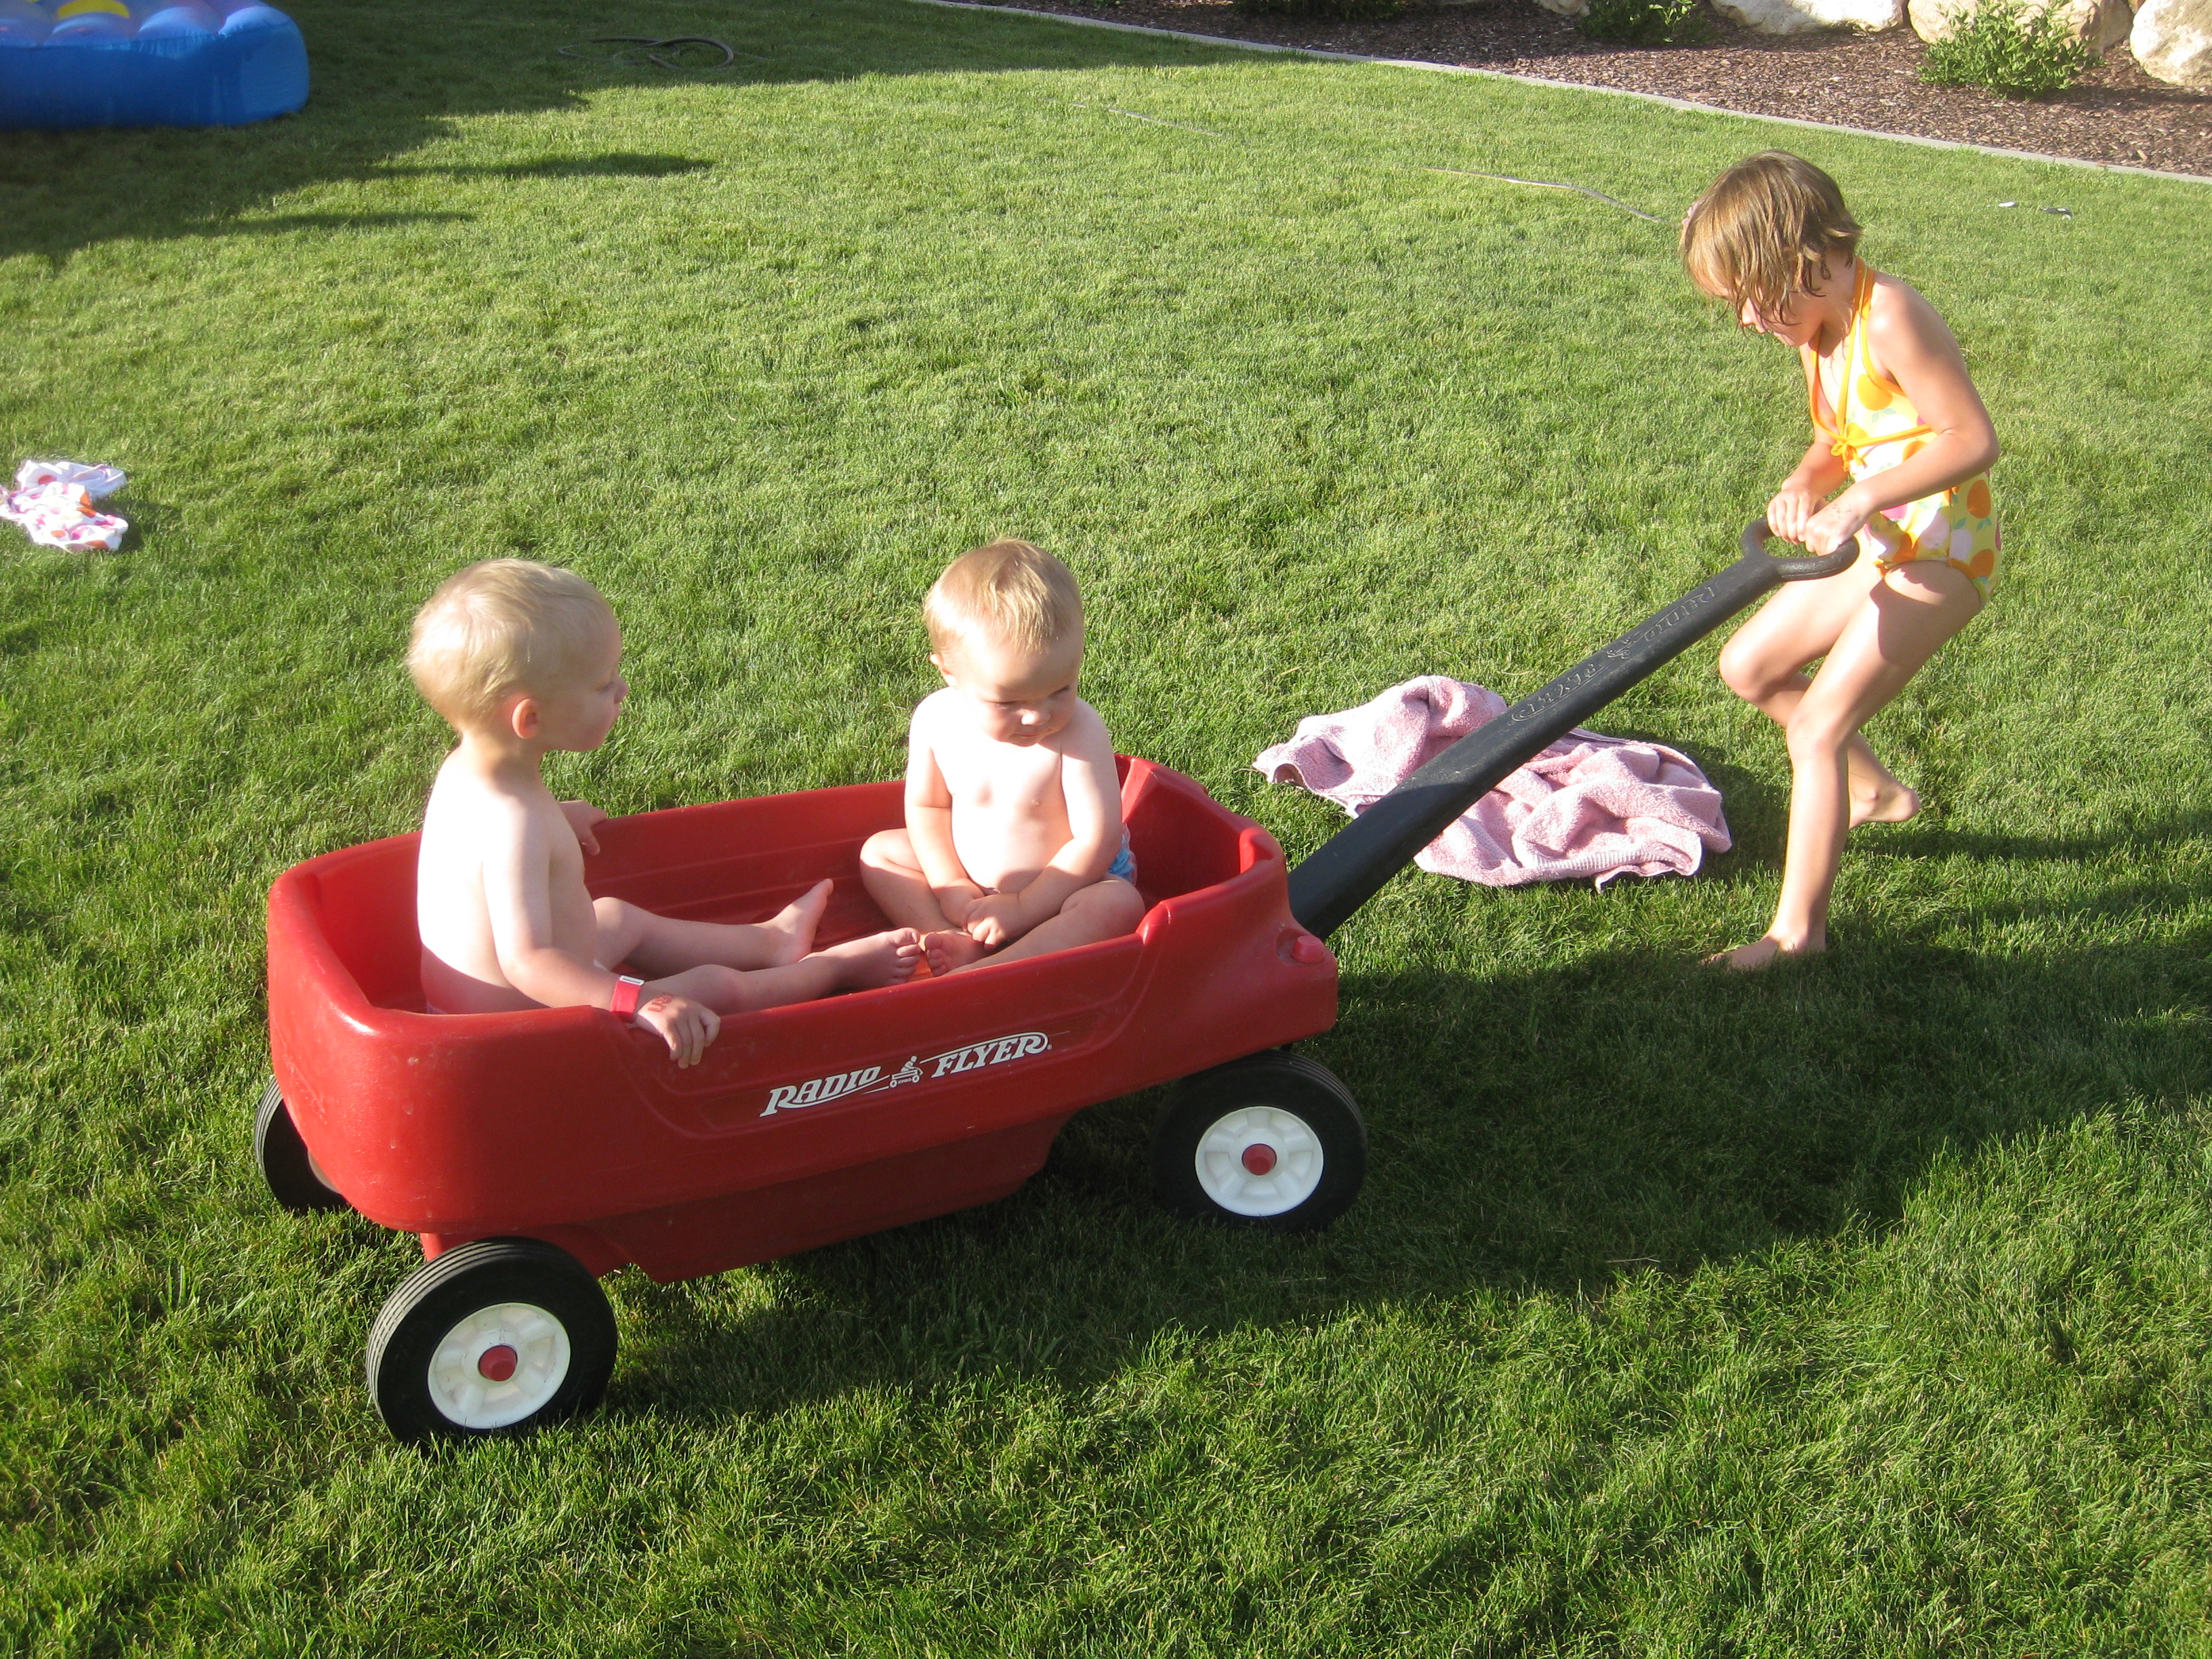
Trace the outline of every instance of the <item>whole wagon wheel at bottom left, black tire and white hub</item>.
<instances>
[{"instance_id":1,"label":"whole wagon wheel at bottom left, black tire and white hub","mask_svg":"<svg viewBox=\"0 0 2212 1659\"><path fill-rule=\"evenodd\" d=\"M447 1250L369 1329L369 1398L400 1440L520 1433L591 1411L613 1371L606 1292L538 1239Z\"/></svg>"}]
</instances>

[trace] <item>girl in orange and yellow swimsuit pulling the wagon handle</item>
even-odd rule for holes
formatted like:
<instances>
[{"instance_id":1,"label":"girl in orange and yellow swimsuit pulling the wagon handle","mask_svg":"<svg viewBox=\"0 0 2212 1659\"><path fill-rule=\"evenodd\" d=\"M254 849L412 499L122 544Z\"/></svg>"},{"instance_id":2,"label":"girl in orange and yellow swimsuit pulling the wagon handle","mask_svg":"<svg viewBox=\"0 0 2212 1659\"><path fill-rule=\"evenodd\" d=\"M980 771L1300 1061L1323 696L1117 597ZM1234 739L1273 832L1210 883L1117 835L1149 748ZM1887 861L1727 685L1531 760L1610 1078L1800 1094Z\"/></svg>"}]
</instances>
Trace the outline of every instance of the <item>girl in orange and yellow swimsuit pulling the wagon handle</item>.
<instances>
[{"instance_id":1,"label":"girl in orange and yellow swimsuit pulling the wagon handle","mask_svg":"<svg viewBox=\"0 0 2212 1659\"><path fill-rule=\"evenodd\" d=\"M1732 166L1683 219L1681 257L1743 327L1805 363L1814 442L1767 502L1767 529L1809 553L1860 546L1849 571L1785 586L1721 648L1721 679L1790 739L1774 922L1710 958L1756 969L1827 949L1845 834L1920 810L1858 728L1989 602L1997 434L1951 330L1858 259L1858 221L1809 161L1765 150Z\"/></svg>"}]
</instances>

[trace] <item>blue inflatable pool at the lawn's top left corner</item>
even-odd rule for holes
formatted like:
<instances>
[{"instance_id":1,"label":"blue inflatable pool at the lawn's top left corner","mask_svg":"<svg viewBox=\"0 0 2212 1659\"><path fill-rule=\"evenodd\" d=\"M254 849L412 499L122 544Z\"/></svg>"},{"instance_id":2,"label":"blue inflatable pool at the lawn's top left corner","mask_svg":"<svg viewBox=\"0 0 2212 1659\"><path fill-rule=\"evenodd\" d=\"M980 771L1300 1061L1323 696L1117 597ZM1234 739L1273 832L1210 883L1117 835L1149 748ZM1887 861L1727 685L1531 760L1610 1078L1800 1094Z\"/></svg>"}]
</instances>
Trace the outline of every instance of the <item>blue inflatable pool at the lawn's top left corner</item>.
<instances>
[{"instance_id":1,"label":"blue inflatable pool at the lawn's top left corner","mask_svg":"<svg viewBox=\"0 0 2212 1659\"><path fill-rule=\"evenodd\" d=\"M0 0L0 126L241 126L307 102L263 0Z\"/></svg>"}]
</instances>

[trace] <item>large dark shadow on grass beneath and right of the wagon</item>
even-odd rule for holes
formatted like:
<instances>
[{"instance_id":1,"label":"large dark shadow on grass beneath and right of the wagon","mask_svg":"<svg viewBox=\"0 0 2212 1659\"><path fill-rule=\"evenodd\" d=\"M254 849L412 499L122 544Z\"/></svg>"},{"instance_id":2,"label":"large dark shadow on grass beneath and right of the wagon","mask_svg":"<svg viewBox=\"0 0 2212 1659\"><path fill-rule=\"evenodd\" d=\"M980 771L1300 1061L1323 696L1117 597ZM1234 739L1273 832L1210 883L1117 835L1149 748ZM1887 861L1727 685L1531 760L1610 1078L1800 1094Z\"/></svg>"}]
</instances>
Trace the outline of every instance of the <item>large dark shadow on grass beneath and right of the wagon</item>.
<instances>
[{"instance_id":1,"label":"large dark shadow on grass beneath and right of the wagon","mask_svg":"<svg viewBox=\"0 0 2212 1659\"><path fill-rule=\"evenodd\" d=\"M2042 845L2079 858L2119 843ZM2205 898L2212 876L2146 878L2044 914L2124 936L2115 918ZM1148 1175L1159 1097L1113 1102L1073 1119L1002 1203L765 1267L772 1310L734 1312L714 1281L628 1276L641 1332L613 1409L712 1420L1006 1374L1084 1389L1183 1332L1593 1294L1628 1272L1880 1228L1947 1150L2203 1088L2212 931L2141 931L2161 938L1869 938L1754 978L1655 953L1352 978L1338 1029L1305 1044L1360 1097L1371 1137L1367 1188L1329 1232L1168 1219Z\"/></svg>"}]
</instances>

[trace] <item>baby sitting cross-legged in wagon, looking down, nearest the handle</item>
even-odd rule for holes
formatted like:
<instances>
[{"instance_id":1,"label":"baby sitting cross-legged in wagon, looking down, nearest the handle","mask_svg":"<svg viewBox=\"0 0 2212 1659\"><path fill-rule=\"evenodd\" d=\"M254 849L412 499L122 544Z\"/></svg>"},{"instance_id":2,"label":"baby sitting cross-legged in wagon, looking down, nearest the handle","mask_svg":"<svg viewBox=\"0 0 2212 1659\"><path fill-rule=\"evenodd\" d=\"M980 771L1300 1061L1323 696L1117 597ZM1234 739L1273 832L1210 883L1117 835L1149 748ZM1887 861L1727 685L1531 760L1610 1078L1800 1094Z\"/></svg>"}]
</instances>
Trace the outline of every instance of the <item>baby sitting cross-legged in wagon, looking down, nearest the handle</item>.
<instances>
[{"instance_id":1,"label":"baby sitting cross-legged in wagon, looking down, nearest the handle","mask_svg":"<svg viewBox=\"0 0 2212 1659\"><path fill-rule=\"evenodd\" d=\"M922 604L945 690L907 734L907 827L860 849L931 973L1128 933L1144 920L1106 721L1075 681L1075 575L1029 542L953 560Z\"/></svg>"}]
</instances>

